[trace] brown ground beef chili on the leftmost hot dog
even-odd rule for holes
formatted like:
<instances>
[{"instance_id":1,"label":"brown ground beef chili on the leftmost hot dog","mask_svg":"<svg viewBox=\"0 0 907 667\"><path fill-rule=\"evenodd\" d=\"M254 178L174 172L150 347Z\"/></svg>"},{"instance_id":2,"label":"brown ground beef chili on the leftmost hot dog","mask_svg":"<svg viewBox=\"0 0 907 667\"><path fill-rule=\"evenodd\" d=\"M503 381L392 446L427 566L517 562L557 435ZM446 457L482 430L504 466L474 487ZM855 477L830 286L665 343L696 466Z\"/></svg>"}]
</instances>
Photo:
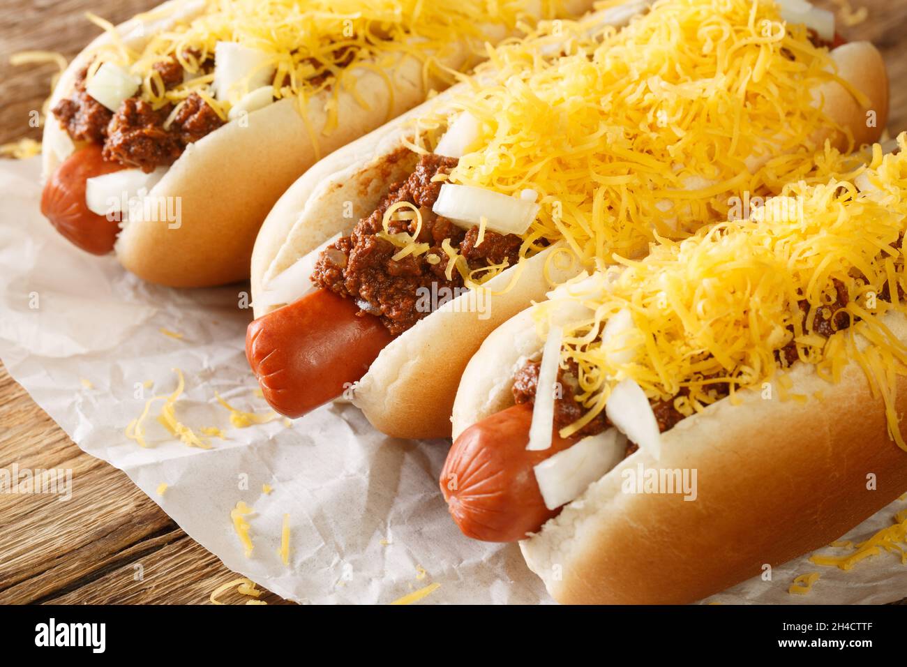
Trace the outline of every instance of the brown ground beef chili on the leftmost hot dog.
<instances>
[{"instance_id":1,"label":"brown ground beef chili on the leftmost hot dog","mask_svg":"<svg viewBox=\"0 0 907 667\"><path fill-rule=\"evenodd\" d=\"M183 68L175 58L152 65L170 90L183 81ZM153 172L176 161L190 143L199 141L224 124L197 93L191 93L168 128L164 123L173 111L168 104L155 110L140 96L123 100L116 113L85 92L87 68L77 76L73 93L52 110L73 141L103 147L104 160Z\"/></svg>"}]
</instances>

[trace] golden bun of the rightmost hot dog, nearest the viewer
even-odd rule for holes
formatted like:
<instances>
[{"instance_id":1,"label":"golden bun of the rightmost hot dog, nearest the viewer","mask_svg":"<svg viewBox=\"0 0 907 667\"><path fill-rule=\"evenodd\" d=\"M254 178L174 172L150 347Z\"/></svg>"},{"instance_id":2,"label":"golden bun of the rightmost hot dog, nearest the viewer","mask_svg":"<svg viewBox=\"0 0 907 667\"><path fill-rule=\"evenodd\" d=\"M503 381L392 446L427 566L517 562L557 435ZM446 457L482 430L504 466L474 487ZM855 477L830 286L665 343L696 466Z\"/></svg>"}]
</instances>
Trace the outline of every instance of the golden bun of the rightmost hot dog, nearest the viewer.
<instances>
[{"instance_id":1,"label":"golden bun of the rightmost hot dog, nearest the viewer","mask_svg":"<svg viewBox=\"0 0 907 667\"><path fill-rule=\"evenodd\" d=\"M907 320L883 321L907 342ZM514 365L540 350L530 310L495 330L463 373L454 435L512 405ZM527 564L551 595L561 603L694 602L829 544L907 489L907 454L889 438L883 401L858 364L834 385L807 364L785 374L792 393L810 397L805 404L757 391L737 406L720 400L665 432L659 459L640 449L523 540ZM899 377L901 414L905 391ZM639 465L696 468L696 501L624 493L623 471ZM870 474L877 490L867 490Z\"/></svg>"}]
</instances>

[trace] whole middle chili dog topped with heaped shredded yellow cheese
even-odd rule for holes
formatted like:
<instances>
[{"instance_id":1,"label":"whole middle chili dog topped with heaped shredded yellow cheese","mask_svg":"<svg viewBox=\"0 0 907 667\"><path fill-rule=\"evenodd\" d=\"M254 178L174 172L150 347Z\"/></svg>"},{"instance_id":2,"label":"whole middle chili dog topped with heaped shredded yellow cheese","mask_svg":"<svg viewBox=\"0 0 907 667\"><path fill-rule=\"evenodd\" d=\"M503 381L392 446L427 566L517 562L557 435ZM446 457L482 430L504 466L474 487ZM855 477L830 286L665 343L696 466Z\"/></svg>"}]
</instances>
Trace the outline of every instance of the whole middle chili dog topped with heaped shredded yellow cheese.
<instances>
[{"instance_id":1,"label":"whole middle chili dog topped with heaped shredded yellow cheese","mask_svg":"<svg viewBox=\"0 0 907 667\"><path fill-rule=\"evenodd\" d=\"M779 191L826 141L878 136L870 44L829 50L834 28L774 2L628 6L493 50L278 202L247 336L272 407L299 417L352 387L385 433L447 436L468 359L552 282L726 218L730 192Z\"/></svg>"}]
</instances>

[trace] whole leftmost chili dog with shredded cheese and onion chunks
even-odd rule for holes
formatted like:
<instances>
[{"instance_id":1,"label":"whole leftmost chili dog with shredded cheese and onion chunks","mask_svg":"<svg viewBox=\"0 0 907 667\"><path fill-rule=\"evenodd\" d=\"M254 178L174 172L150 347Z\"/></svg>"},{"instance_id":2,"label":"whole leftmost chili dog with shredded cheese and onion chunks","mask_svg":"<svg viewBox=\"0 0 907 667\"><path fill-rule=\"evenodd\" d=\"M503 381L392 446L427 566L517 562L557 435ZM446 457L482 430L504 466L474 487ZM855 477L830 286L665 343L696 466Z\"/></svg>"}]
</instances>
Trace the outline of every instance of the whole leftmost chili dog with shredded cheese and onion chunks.
<instances>
[{"instance_id":1,"label":"whole leftmost chili dog with shredded cheese and onion chunks","mask_svg":"<svg viewBox=\"0 0 907 667\"><path fill-rule=\"evenodd\" d=\"M44 215L177 287L249 276L258 228L317 159L412 108L483 43L590 0L173 0L63 74L44 130ZM543 9L542 9L543 8Z\"/></svg>"}]
</instances>

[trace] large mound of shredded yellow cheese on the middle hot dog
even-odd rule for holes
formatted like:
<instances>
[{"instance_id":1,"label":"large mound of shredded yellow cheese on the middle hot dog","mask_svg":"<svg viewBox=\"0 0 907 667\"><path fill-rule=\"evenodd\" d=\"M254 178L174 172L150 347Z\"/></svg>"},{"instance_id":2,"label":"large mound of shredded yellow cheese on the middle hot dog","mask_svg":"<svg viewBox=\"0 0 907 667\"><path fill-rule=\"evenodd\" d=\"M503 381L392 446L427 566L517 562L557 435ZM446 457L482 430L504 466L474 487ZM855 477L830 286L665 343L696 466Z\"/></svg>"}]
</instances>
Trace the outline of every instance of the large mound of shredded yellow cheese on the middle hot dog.
<instances>
[{"instance_id":1,"label":"large mound of shredded yellow cheese on the middle hot dog","mask_svg":"<svg viewBox=\"0 0 907 667\"><path fill-rule=\"evenodd\" d=\"M656 233L726 220L731 194L805 177L823 149L810 137L832 124L811 91L837 80L834 65L770 0L658 2L591 34L555 24L563 54L538 35L491 49L454 103L477 120L482 148L448 180L539 193L523 254L562 238L589 265L639 256Z\"/></svg>"}]
</instances>

